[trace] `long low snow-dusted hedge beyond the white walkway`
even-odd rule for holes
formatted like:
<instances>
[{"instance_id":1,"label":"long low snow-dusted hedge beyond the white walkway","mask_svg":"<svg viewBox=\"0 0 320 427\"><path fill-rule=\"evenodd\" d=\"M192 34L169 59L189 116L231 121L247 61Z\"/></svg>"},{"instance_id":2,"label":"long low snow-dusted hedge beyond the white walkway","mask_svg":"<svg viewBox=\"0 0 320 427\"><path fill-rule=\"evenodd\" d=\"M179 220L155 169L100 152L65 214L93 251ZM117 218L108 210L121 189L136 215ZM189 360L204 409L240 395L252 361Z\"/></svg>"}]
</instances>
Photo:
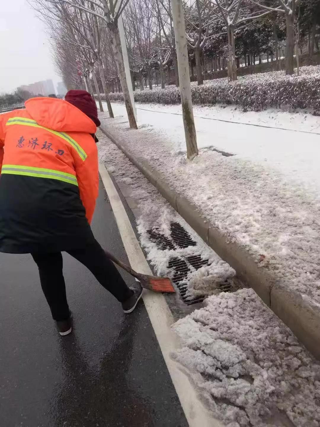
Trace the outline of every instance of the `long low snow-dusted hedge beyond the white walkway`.
<instances>
[{"instance_id":1,"label":"long low snow-dusted hedge beyond the white walkway","mask_svg":"<svg viewBox=\"0 0 320 427\"><path fill-rule=\"evenodd\" d=\"M284 71L251 74L236 82L227 79L208 80L202 86L191 84L194 104L236 104L253 111L270 106L313 108L320 110L320 65L301 67L300 76L286 76ZM102 94L102 99L104 95ZM123 100L122 93L110 94L112 101ZM135 91L136 102L179 104L180 90L174 85L166 89Z\"/></svg>"}]
</instances>

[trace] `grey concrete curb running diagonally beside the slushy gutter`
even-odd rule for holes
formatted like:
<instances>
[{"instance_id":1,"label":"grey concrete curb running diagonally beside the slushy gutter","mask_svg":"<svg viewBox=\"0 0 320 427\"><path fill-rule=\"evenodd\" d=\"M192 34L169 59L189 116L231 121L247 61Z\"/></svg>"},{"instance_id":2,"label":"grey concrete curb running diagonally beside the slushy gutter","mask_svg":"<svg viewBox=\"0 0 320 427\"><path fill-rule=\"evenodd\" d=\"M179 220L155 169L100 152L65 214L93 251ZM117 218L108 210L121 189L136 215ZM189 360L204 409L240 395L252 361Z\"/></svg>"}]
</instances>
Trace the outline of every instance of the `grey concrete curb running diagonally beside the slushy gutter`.
<instances>
[{"instance_id":1,"label":"grey concrete curb running diagonally beside the slushy gutter","mask_svg":"<svg viewBox=\"0 0 320 427\"><path fill-rule=\"evenodd\" d=\"M241 281L255 290L262 301L294 332L305 347L320 360L320 308L309 304L302 295L280 283L271 270L259 266L249 253L236 243L229 243L217 228L210 227L201 212L184 196L170 188L145 160L133 155L109 130L102 132L128 157L160 194L188 222L199 236L230 266Z\"/></svg>"}]
</instances>

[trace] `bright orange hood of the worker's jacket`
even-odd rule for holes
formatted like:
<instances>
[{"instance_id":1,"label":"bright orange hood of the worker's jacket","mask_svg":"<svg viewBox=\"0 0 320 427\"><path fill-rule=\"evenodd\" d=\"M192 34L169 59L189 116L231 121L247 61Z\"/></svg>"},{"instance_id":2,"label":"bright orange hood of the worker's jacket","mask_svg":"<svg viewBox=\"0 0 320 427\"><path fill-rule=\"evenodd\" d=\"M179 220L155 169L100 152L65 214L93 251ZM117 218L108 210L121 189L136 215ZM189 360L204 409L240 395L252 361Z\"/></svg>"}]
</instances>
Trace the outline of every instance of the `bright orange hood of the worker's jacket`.
<instances>
[{"instance_id":1,"label":"bright orange hood of the worker's jacket","mask_svg":"<svg viewBox=\"0 0 320 427\"><path fill-rule=\"evenodd\" d=\"M31 98L25 105L32 119L45 128L58 132L96 133L97 127L93 121L64 99Z\"/></svg>"}]
</instances>

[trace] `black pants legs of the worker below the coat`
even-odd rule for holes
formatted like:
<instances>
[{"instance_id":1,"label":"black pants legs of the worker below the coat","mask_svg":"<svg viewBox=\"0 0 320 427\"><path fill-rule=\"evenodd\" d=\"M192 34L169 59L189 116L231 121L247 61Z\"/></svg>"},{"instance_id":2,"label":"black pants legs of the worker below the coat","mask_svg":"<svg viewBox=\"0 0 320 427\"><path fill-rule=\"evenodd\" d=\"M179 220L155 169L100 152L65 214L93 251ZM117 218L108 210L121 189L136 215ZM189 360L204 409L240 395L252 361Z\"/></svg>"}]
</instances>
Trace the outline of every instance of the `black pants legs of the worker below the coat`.
<instances>
[{"instance_id":1,"label":"black pants legs of the worker below the coat","mask_svg":"<svg viewBox=\"0 0 320 427\"><path fill-rule=\"evenodd\" d=\"M102 286L120 302L132 295L120 273L106 256L97 241L80 249L67 251L68 254L86 266ZM61 252L32 253L38 265L41 287L49 304L54 320L69 317L66 286L62 273Z\"/></svg>"}]
</instances>

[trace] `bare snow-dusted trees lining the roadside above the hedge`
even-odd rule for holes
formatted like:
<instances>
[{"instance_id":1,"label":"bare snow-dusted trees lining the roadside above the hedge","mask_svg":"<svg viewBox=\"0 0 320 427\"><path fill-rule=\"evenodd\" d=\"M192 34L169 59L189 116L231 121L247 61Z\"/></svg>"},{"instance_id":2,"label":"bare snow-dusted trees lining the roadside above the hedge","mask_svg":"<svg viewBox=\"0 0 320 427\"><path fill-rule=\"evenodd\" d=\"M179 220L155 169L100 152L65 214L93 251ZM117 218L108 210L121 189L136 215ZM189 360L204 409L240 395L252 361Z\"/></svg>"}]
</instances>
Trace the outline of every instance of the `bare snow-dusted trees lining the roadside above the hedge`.
<instances>
[{"instance_id":1,"label":"bare snow-dusted trees lining the roadside above the hedge","mask_svg":"<svg viewBox=\"0 0 320 427\"><path fill-rule=\"evenodd\" d=\"M47 24L55 64L67 88L83 85L95 92L103 111L102 86L113 117L109 92L112 85L117 86L123 92L130 126L137 129L131 84L137 79L143 90L147 77L152 89L151 74L156 68L165 88L164 67L169 67L176 85L183 79L183 118L194 139L190 64L192 70L196 65L199 85L209 58L215 70L224 59L229 80L236 80L241 57L250 64L255 56L266 53L279 61L279 41L285 37L286 73L292 74L295 46L307 34L312 54L320 23L319 0L33 0L32 5ZM125 73L129 65L131 82ZM189 142L196 147L195 140L189 138Z\"/></svg>"}]
</instances>

